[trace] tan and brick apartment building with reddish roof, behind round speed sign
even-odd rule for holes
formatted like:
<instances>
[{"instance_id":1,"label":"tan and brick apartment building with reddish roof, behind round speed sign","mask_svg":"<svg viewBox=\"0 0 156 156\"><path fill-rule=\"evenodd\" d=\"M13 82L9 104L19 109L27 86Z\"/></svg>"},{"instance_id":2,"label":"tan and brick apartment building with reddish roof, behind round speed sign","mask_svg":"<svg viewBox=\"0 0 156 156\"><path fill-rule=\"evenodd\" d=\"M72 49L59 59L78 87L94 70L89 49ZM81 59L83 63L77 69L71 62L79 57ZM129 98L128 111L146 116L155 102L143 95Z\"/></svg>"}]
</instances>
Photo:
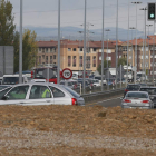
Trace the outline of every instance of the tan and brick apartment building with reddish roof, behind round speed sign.
<instances>
[{"instance_id":1,"label":"tan and brick apartment building with reddish roof, behind round speed sign","mask_svg":"<svg viewBox=\"0 0 156 156\"><path fill-rule=\"evenodd\" d=\"M111 41L104 42L104 58L111 60L115 67L115 46ZM56 64L58 58L57 41L38 41L38 64ZM101 41L89 41L86 48L86 70L96 71L101 62ZM61 40L60 41L60 68L70 68L72 71L84 69L84 41Z\"/></svg>"}]
</instances>

